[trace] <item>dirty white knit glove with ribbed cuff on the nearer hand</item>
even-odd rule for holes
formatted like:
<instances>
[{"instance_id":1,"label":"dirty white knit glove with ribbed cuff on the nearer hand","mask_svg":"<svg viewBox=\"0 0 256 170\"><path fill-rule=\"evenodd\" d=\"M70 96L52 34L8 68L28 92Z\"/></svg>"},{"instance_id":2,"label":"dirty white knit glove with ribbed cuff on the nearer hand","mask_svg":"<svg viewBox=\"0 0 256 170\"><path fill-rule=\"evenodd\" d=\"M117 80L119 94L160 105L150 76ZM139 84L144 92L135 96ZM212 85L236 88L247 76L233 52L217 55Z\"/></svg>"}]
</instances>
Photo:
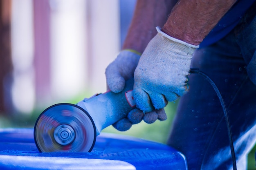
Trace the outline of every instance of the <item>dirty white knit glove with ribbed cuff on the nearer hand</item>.
<instances>
[{"instance_id":1,"label":"dirty white knit glove with ribbed cuff on the nearer hand","mask_svg":"<svg viewBox=\"0 0 256 170\"><path fill-rule=\"evenodd\" d=\"M177 40L157 27L140 57L134 73L133 96L144 112L166 106L189 90L187 84L192 54L199 46Z\"/></svg>"}]
</instances>

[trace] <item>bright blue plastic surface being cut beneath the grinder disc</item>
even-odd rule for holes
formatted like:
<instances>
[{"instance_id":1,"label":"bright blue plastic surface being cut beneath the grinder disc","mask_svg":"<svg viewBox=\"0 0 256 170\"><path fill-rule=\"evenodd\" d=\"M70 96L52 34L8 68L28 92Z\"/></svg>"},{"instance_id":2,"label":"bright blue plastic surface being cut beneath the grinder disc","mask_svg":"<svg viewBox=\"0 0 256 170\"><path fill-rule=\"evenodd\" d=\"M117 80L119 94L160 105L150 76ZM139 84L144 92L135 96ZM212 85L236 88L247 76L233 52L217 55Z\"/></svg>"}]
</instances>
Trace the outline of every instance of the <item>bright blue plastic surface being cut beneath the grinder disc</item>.
<instances>
[{"instance_id":1,"label":"bright blue plastic surface being cut beneath the grinder disc","mask_svg":"<svg viewBox=\"0 0 256 170\"><path fill-rule=\"evenodd\" d=\"M102 133L92 152L41 153L33 129L0 129L0 170L187 170L177 150L152 141Z\"/></svg>"}]
</instances>

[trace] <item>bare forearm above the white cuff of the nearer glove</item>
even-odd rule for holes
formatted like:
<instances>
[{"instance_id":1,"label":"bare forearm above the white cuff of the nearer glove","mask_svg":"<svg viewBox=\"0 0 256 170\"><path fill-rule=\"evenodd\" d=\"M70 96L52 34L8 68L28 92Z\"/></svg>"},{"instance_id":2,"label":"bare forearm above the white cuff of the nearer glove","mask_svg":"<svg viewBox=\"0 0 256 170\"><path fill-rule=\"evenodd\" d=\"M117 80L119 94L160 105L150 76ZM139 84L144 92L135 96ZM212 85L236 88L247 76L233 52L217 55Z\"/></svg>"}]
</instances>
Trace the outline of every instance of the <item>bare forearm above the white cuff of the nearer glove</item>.
<instances>
[{"instance_id":1,"label":"bare forearm above the white cuff of the nearer glove","mask_svg":"<svg viewBox=\"0 0 256 170\"><path fill-rule=\"evenodd\" d=\"M162 31L171 37L198 45L236 0L180 0Z\"/></svg>"}]
</instances>

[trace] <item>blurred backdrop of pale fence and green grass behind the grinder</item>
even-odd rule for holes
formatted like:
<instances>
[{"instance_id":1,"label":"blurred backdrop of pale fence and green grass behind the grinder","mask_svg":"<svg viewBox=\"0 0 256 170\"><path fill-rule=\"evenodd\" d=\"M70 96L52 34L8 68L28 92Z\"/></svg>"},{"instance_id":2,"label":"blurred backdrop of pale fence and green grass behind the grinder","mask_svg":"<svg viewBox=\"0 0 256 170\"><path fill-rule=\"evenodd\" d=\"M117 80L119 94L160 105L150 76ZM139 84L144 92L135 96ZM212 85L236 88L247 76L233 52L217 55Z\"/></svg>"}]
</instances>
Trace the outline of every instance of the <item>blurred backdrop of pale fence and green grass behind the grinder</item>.
<instances>
[{"instance_id":1,"label":"blurred backdrop of pale fence and green grass behind the grinder","mask_svg":"<svg viewBox=\"0 0 256 170\"><path fill-rule=\"evenodd\" d=\"M47 107L106 91L105 68L119 53L136 0L0 0L0 128L33 128ZM167 121L119 132L166 143ZM255 150L255 149L254 149ZM255 169L254 150L249 169Z\"/></svg>"}]
</instances>

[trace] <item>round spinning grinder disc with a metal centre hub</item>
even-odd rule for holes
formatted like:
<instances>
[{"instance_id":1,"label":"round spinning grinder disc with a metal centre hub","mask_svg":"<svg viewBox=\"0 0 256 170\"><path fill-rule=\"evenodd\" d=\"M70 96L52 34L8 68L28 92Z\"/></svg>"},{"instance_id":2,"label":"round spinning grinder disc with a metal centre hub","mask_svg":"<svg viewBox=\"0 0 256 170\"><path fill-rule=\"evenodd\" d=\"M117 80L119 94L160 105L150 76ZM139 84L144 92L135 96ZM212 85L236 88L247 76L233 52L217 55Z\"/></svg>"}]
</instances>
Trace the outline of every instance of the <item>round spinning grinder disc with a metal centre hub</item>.
<instances>
[{"instance_id":1,"label":"round spinning grinder disc with a metal centre hub","mask_svg":"<svg viewBox=\"0 0 256 170\"><path fill-rule=\"evenodd\" d=\"M55 104L45 109L34 127L40 152L90 152L96 128L90 115L75 104Z\"/></svg>"}]
</instances>

